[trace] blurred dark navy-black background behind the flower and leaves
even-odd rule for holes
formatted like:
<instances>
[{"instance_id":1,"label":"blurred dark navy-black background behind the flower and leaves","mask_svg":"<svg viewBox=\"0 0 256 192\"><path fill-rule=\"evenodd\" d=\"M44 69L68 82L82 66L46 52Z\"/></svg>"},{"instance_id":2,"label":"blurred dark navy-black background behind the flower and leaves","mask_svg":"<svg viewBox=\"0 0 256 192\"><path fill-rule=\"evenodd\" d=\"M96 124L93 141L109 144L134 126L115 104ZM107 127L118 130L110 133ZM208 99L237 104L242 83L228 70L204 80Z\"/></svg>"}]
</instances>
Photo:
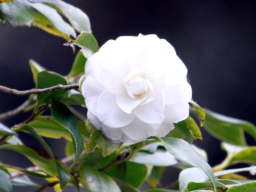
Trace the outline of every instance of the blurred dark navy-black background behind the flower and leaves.
<instances>
[{"instance_id":1,"label":"blurred dark navy-black background behind the flower and leaves","mask_svg":"<svg viewBox=\"0 0 256 192\"><path fill-rule=\"evenodd\" d=\"M255 1L66 1L82 9L91 20L99 45L118 36L156 34L175 48L188 68L193 99L212 111L256 124L256 6ZM0 26L0 84L18 90L34 88L29 59L48 70L67 75L75 55L65 40L35 27ZM157 64L156 64L157 67ZM18 107L27 98L0 92L0 113ZM30 113L3 121L20 123ZM202 129L209 164L225 157L220 141ZM20 134L27 145L40 147L32 137ZM50 140L58 158L64 157L62 140ZM250 144L255 144L249 140ZM23 156L0 151L0 161L27 167ZM178 177L176 170L165 173L168 185ZM174 178L173 178L174 177ZM31 190L33 191L33 190Z\"/></svg>"}]
</instances>

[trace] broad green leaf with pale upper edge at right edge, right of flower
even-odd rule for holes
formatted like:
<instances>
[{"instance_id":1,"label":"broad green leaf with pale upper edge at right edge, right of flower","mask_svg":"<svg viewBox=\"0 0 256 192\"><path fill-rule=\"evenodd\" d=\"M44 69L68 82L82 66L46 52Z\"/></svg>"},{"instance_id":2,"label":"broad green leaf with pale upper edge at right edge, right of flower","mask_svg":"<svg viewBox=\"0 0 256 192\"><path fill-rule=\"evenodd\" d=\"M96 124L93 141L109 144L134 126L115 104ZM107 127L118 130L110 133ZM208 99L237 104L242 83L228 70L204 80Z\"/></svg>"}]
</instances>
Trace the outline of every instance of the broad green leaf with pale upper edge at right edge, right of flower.
<instances>
[{"instance_id":1,"label":"broad green leaf with pale upper edge at right edge, right of flower","mask_svg":"<svg viewBox=\"0 0 256 192\"><path fill-rule=\"evenodd\" d=\"M204 128L214 137L235 145L246 145L244 132L256 140L256 128L247 121L220 115L206 110Z\"/></svg>"}]
</instances>

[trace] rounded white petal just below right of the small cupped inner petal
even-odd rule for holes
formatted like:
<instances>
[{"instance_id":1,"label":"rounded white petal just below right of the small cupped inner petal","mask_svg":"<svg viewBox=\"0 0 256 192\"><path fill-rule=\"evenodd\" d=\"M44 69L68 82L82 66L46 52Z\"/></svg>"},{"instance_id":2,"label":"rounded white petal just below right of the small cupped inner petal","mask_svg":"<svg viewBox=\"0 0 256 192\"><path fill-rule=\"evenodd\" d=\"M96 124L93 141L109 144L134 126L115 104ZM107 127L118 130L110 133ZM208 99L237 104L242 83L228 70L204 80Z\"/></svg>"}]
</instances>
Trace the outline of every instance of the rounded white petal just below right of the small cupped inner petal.
<instances>
[{"instance_id":1,"label":"rounded white petal just below right of the small cupped inner petal","mask_svg":"<svg viewBox=\"0 0 256 192\"><path fill-rule=\"evenodd\" d=\"M133 109L135 115L145 123L162 123L164 121L164 97L160 92L156 99Z\"/></svg>"}]
</instances>

